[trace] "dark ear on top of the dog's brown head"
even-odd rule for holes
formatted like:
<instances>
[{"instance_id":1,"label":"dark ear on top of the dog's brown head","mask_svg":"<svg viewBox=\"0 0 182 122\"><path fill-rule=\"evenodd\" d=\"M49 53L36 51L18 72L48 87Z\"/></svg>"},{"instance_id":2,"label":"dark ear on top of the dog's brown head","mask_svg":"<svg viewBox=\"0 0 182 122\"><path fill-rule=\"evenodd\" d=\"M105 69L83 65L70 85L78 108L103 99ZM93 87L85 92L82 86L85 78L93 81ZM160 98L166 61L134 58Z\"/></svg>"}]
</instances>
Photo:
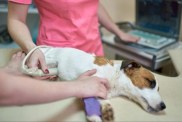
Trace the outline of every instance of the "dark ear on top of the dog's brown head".
<instances>
[{"instance_id":1,"label":"dark ear on top of the dog's brown head","mask_svg":"<svg viewBox=\"0 0 182 122\"><path fill-rule=\"evenodd\" d=\"M124 60L122 62L122 65L121 65L120 69L125 69L125 68L133 69L133 68L140 68L140 67L141 67L141 65L138 64L135 61L132 61L132 60Z\"/></svg>"}]
</instances>

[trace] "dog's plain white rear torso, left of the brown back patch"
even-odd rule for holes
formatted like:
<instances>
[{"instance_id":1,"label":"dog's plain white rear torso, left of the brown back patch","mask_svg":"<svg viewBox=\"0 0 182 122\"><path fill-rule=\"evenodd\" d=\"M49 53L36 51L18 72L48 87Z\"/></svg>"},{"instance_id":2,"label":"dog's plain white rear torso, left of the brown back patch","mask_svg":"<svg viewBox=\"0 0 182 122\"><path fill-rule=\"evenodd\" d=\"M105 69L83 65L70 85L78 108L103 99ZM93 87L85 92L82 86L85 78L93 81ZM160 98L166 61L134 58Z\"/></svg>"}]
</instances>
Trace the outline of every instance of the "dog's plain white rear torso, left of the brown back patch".
<instances>
[{"instance_id":1,"label":"dog's plain white rear torso, left of the brown back patch","mask_svg":"<svg viewBox=\"0 0 182 122\"><path fill-rule=\"evenodd\" d=\"M56 64L58 76L74 80L85 71L95 68L94 56L73 48L43 48L46 63Z\"/></svg>"}]
</instances>

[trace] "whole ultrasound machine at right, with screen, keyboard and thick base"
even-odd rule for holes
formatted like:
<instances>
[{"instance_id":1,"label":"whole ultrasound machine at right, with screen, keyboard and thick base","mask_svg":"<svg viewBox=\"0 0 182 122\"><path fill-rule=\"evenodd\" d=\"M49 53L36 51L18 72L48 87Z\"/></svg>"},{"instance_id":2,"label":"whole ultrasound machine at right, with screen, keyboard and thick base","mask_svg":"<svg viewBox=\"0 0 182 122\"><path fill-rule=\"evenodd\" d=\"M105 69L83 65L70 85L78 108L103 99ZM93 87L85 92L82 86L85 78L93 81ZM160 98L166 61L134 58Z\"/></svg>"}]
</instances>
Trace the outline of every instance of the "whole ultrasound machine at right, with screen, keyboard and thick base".
<instances>
[{"instance_id":1,"label":"whole ultrasound machine at right, with screen, keyboard and thick base","mask_svg":"<svg viewBox=\"0 0 182 122\"><path fill-rule=\"evenodd\" d=\"M136 0L135 8L135 23L117 24L140 40L124 42L114 35L114 43L105 42L114 47L117 59L135 59L153 70L159 69L170 62L168 50L181 45L182 0Z\"/></svg>"}]
</instances>

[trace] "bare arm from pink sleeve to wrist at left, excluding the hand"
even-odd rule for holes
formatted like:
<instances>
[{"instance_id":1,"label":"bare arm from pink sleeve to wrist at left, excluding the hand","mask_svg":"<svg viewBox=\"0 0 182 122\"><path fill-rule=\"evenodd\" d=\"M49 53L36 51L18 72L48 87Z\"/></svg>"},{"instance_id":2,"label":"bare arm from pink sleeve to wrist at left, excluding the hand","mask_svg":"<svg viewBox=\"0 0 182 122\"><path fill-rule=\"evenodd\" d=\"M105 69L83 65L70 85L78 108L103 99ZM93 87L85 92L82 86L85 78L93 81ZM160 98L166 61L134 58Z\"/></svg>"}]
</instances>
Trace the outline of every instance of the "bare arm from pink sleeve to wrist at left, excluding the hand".
<instances>
[{"instance_id":1,"label":"bare arm from pink sleeve to wrist at left, excluding the hand","mask_svg":"<svg viewBox=\"0 0 182 122\"><path fill-rule=\"evenodd\" d=\"M26 25L29 5L8 2L8 30L14 41L28 53L35 47Z\"/></svg>"}]
</instances>

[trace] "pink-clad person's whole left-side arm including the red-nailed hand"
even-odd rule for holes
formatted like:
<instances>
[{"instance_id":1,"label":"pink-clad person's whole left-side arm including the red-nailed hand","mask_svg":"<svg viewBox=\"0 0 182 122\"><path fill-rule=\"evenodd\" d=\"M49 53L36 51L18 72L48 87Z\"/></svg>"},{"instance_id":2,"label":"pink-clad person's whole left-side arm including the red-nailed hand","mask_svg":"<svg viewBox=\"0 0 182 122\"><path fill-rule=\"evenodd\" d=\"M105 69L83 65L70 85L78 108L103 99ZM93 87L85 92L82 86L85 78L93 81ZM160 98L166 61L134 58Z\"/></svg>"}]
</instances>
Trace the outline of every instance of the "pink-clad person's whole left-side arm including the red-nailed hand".
<instances>
[{"instance_id":1,"label":"pink-clad person's whole left-side arm including the red-nailed hand","mask_svg":"<svg viewBox=\"0 0 182 122\"><path fill-rule=\"evenodd\" d=\"M26 24L26 17L28 13L27 4L18 4L15 2L8 2L8 30L13 40L28 53L36 45L33 43L30 31ZM36 50L29 61L27 62L29 67L38 67L43 70L44 73L48 73L45 58L40 50Z\"/></svg>"}]
</instances>

